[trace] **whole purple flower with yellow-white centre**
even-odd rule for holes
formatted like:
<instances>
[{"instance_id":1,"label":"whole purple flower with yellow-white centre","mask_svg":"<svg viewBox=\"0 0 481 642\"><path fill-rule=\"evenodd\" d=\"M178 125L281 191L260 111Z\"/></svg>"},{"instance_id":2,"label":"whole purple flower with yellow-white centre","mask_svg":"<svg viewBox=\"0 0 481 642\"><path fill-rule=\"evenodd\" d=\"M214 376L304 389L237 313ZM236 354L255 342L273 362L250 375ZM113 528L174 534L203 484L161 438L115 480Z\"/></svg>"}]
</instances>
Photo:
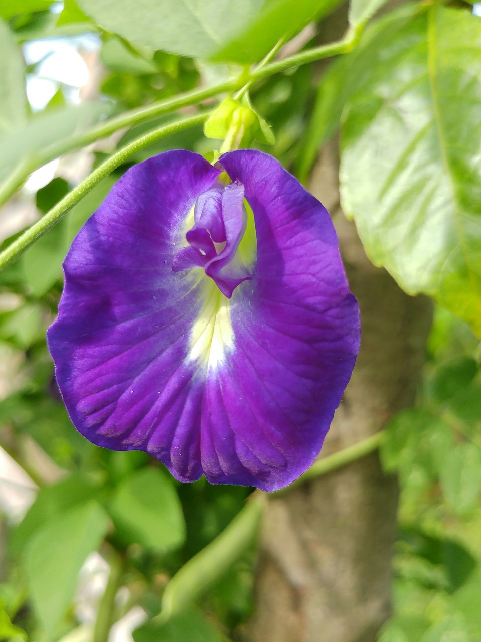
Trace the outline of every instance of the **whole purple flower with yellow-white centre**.
<instances>
[{"instance_id":1,"label":"whole purple flower with yellow-white centre","mask_svg":"<svg viewBox=\"0 0 481 642\"><path fill-rule=\"evenodd\" d=\"M67 254L48 344L94 444L275 490L320 451L358 306L319 201L267 154L220 164L232 182L186 151L119 180Z\"/></svg>"}]
</instances>

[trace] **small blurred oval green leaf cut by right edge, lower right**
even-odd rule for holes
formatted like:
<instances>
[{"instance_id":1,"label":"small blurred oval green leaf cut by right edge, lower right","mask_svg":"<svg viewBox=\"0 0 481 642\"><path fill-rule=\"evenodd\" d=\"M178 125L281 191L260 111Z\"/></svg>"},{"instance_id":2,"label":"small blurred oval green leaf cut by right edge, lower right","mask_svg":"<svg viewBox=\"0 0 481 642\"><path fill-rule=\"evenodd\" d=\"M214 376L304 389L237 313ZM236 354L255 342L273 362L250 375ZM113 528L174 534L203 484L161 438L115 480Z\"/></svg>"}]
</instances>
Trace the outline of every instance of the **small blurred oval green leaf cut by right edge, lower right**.
<instances>
[{"instance_id":1,"label":"small blurred oval green leaf cut by right edge, lower right","mask_svg":"<svg viewBox=\"0 0 481 642\"><path fill-rule=\"evenodd\" d=\"M457 514L475 508L481 491L481 451L473 444L456 446L444 460L441 488Z\"/></svg>"}]
</instances>

